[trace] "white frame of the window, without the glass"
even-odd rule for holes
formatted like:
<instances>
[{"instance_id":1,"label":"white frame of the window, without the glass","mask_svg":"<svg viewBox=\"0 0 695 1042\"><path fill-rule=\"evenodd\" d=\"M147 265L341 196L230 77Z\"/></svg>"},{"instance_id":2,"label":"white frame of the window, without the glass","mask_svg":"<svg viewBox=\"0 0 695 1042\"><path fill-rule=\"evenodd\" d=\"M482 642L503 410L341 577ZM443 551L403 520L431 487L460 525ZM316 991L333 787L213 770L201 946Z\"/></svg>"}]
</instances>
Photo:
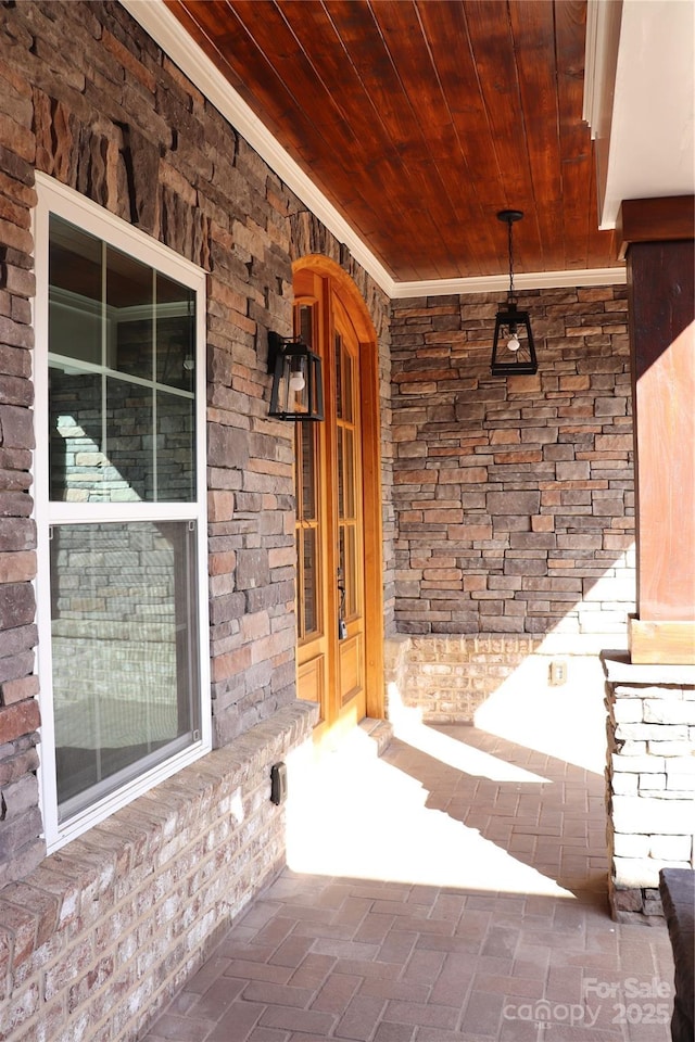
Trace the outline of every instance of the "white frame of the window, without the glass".
<instances>
[{"instance_id":1,"label":"white frame of the window, without the glass","mask_svg":"<svg viewBox=\"0 0 695 1042\"><path fill-rule=\"evenodd\" d=\"M53 178L37 173L37 206L34 211L36 297L34 303L35 348L35 445L34 478L37 525L38 656L41 710L39 746L39 800L48 853L104 821L131 800L147 792L212 749L212 710L210 687L207 612L207 488L205 436L205 271L180 257L140 229L93 203ZM49 499L49 216L55 214L97 239L180 282L195 294L195 497L191 501L126 500L118 503L70 503ZM197 533L198 594L198 683L200 736L186 749L143 771L121 788L97 800L66 821L59 821L55 774L55 730L53 717L50 526L60 523L191 521Z\"/></svg>"}]
</instances>

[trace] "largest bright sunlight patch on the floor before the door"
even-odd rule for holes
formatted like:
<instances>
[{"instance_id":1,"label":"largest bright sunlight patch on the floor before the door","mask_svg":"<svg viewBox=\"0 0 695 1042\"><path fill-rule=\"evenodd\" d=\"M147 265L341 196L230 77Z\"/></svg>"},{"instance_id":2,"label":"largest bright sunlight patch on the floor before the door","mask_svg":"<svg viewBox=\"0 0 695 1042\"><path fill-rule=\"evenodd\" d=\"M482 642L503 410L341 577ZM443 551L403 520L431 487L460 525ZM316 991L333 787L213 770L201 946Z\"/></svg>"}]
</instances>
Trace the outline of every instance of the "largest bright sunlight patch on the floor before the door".
<instances>
[{"instance_id":1,"label":"largest bright sunlight patch on the floor before the door","mask_svg":"<svg viewBox=\"0 0 695 1042\"><path fill-rule=\"evenodd\" d=\"M296 750L288 768L288 865L295 872L572 897L477 829L428 809L427 789L378 759L359 730L320 759Z\"/></svg>"}]
</instances>

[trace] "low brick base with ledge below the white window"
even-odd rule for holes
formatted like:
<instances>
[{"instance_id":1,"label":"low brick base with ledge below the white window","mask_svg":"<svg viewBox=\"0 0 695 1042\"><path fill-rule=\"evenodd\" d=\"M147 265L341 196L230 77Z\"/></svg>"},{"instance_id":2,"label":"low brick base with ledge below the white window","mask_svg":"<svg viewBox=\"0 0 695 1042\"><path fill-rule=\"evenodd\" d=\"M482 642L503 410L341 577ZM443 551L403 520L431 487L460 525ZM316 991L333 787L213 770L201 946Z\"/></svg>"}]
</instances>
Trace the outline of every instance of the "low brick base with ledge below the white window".
<instances>
[{"instance_id":1,"label":"low brick base with ledge below the white window","mask_svg":"<svg viewBox=\"0 0 695 1042\"><path fill-rule=\"evenodd\" d=\"M0 894L0 1038L136 1042L285 864L270 766L296 702L186 767Z\"/></svg>"}]
</instances>

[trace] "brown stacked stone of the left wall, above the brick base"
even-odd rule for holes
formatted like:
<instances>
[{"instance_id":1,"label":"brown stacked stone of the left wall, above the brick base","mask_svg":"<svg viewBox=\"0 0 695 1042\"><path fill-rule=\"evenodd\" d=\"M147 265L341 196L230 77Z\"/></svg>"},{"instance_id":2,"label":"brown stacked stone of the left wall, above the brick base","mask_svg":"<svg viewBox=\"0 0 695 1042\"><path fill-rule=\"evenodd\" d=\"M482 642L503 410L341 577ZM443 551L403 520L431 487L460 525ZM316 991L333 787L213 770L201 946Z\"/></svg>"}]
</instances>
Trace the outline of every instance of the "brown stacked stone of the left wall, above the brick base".
<instances>
[{"instance_id":1,"label":"brown stacked stone of the left wall, above the brick base","mask_svg":"<svg viewBox=\"0 0 695 1042\"><path fill-rule=\"evenodd\" d=\"M35 168L208 272L210 647L217 745L287 706L295 691L293 430L268 419L266 371L267 331L291 331L292 259L324 249L355 277L380 334L382 359L388 302L119 4L9 4L0 55L3 882L42 855L29 493ZM382 371L388 378L386 363ZM387 394L388 379L384 407Z\"/></svg>"}]
</instances>

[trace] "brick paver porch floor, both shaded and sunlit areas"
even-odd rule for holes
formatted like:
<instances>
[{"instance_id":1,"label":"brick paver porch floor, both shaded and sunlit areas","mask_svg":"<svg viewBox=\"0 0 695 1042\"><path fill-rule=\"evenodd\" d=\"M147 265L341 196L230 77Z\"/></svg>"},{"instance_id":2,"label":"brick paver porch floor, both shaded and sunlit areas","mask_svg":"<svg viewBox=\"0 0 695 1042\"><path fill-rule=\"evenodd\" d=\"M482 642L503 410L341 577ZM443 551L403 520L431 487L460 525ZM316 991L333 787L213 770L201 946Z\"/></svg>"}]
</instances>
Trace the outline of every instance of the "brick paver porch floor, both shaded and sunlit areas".
<instances>
[{"instance_id":1,"label":"brick paver porch floor, both shaded and sunlit areas","mask_svg":"<svg viewBox=\"0 0 695 1042\"><path fill-rule=\"evenodd\" d=\"M413 735L291 771L290 867L143 1042L668 1042L666 927L607 912L601 771Z\"/></svg>"}]
</instances>

